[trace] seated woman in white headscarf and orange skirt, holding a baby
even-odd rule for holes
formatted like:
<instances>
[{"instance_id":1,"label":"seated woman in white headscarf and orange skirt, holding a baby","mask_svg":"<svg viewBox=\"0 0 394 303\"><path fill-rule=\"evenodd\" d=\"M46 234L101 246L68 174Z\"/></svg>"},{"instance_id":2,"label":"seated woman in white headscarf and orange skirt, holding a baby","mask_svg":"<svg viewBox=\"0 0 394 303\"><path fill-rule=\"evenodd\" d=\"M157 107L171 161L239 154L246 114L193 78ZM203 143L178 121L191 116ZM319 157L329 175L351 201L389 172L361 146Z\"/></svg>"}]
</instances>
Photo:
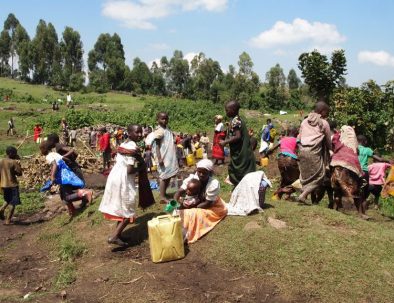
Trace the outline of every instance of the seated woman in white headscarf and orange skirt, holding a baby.
<instances>
[{"instance_id":1,"label":"seated woman in white headscarf and orange skirt, holding a baby","mask_svg":"<svg viewBox=\"0 0 394 303\"><path fill-rule=\"evenodd\" d=\"M227 215L225 203L219 197L219 181L212 177L212 172L213 163L211 160L203 159L199 161L196 173L183 181L182 186L174 196L175 200L179 200L186 193L187 184L190 180L198 179L200 181L200 203L195 208L179 211L188 243L194 243L210 232Z\"/></svg>"}]
</instances>

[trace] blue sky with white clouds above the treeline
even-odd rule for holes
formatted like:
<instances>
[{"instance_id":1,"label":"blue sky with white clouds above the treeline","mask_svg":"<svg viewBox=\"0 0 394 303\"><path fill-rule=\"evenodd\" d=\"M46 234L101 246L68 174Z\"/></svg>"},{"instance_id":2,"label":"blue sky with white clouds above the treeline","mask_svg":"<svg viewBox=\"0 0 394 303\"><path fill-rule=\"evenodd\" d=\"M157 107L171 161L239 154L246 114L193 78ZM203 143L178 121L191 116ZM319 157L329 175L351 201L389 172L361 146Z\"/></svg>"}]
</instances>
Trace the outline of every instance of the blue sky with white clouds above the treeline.
<instances>
[{"instance_id":1,"label":"blue sky with white clouds above the treeline","mask_svg":"<svg viewBox=\"0 0 394 303\"><path fill-rule=\"evenodd\" d=\"M313 49L330 57L344 49L346 81L394 80L392 0L0 0L0 24L14 13L30 37L40 19L59 39L66 26L81 34L85 59L101 33L117 33L126 63L147 64L181 50L188 59L203 52L224 71L246 51L265 80L279 63L285 75Z\"/></svg>"}]
</instances>

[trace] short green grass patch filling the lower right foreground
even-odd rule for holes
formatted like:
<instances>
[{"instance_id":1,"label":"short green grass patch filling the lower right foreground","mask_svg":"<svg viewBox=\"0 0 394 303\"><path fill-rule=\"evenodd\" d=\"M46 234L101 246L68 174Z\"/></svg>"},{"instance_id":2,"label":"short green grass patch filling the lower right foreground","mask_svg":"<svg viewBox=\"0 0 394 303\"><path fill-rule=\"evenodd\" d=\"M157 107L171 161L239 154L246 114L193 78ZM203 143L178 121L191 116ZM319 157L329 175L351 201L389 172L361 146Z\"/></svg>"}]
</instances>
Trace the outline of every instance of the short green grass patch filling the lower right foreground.
<instances>
[{"instance_id":1,"label":"short green grass patch filling the lower right foreground","mask_svg":"<svg viewBox=\"0 0 394 303\"><path fill-rule=\"evenodd\" d=\"M310 302L392 302L394 222L364 221L322 206L272 202L262 215L228 217L199 243L208 260L269 279ZM276 217L282 230L267 224ZM261 228L243 230L250 221Z\"/></svg>"}]
</instances>

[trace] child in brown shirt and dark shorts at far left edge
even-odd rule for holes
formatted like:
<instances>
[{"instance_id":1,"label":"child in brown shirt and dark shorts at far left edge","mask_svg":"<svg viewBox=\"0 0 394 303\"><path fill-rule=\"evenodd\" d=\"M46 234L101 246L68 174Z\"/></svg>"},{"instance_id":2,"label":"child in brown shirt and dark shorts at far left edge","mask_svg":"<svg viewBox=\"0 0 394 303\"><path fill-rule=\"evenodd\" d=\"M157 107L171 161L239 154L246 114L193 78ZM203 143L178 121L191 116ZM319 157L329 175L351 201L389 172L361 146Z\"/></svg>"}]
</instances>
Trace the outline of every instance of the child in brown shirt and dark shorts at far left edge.
<instances>
[{"instance_id":1,"label":"child in brown shirt and dark shorts at far left edge","mask_svg":"<svg viewBox=\"0 0 394 303\"><path fill-rule=\"evenodd\" d=\"M0 219L4 220L4 211L10 205L10 212L5 221L5 225L11 224L11 219L15 211L15 206L21 204L19 197L19 186L17 176L22 176L22 168L19 163L18 151L13 146L6 149L7 158L0 161L0 187L4 194L4 205L0 208Z\"/></svg>"}]
</instances>

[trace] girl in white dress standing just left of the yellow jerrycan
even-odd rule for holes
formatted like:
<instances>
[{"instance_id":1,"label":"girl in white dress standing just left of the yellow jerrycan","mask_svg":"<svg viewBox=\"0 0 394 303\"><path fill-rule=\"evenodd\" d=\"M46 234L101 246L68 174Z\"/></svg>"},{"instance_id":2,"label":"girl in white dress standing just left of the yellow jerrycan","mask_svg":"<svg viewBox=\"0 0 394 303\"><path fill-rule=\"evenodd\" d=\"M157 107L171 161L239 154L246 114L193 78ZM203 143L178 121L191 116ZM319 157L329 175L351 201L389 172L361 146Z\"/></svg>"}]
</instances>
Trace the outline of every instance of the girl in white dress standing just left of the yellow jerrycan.
<instances>
[{"instance_id":1,"label":"girl in white dress standing just left of the yellow jerrycan","mask_svg":"<svg viewBox=\"0 0 394 303\"><path fill-rule=\"evenodd\" d=\"M117 221L115 232L108 238L109 244L126 246L121 238L122 231L135 219L135 200L137 189L136 174L143 168L143 159L138 153L137 142L142 139L142 127L129 125L128 140L120 145L121 148L134 150L134 156L116 154L116 162L108 175L107 184L99 211L108 220Z\"/></svg>"}]
</instances>

